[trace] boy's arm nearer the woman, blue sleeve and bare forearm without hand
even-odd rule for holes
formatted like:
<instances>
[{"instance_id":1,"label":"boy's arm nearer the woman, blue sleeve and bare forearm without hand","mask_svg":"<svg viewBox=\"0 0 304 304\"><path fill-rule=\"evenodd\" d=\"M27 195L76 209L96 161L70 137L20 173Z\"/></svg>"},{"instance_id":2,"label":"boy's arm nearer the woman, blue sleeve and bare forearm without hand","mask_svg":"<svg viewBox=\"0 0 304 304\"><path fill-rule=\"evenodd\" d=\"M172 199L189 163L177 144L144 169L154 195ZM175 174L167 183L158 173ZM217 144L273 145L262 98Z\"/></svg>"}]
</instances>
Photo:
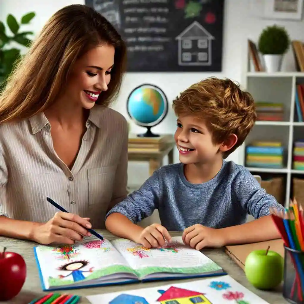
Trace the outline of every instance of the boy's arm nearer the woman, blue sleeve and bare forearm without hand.
<instances>
[{"instance_id":1,"label":"boy's arm nearer the woman, blue sleeve and bare forearm without hand","mask_svg":"<svg viewBox=\"0 0 304 304\"><path fill-rule=\"evenodd\" d=\"M135 225L158 208L160 185L157 171L143 183L139 190L129 194L105 216L106 229L119 237L133 240L143 228Z\"/></svg>"}]
</instances>

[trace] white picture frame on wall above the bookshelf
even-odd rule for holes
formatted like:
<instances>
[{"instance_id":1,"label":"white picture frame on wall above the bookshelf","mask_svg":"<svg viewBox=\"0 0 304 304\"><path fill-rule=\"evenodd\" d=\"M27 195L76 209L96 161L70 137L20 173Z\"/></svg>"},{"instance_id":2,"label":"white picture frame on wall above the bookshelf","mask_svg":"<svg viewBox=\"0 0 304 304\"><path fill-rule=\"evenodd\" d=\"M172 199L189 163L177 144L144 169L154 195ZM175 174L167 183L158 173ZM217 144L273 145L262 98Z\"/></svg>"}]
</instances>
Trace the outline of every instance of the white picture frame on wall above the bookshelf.
<instances>
[{"instance_id":1,"label":"white picture frame on wall above the bookshelf","mask_svg":"<svg viewBox=\"0 0 304 304\"><path fill-rule=\"evenodd\" d=\"M265 0L264 17L301 20L303 0Z\"/></svg>"}]
</instances>

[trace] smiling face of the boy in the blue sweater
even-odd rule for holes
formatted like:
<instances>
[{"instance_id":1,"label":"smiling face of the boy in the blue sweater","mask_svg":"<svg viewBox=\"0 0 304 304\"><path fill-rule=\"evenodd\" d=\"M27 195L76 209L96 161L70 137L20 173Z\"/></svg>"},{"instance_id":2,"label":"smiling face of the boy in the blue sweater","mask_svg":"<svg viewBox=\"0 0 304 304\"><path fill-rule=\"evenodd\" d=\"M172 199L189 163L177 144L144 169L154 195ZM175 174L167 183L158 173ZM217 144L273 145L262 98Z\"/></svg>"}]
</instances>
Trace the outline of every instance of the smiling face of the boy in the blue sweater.
<instances>
[{"instance_id":1,"label":"smiling face of the boy in the blue sweater","mask_svg":"<svg viewBox=\"0 0 304 304\"><path fill-rule=\"evenodd\" d=\"M179 116L174 139L184 164L208 164L222 159L221 143L214 144L206 124L192 116Z\"/></svg>"}]
</instances>

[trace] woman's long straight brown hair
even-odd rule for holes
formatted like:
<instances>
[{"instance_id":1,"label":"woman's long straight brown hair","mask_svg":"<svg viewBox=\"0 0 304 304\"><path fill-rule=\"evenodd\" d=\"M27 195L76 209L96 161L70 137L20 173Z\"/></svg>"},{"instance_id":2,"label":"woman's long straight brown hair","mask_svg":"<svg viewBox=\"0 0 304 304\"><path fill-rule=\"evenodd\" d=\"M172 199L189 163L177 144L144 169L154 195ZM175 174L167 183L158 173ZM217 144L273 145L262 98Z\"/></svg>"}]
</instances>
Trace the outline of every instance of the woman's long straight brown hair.
<instances>
[{"instance_id":1,"label":"woman's long straight brown hair","mask_svg":"<svg viewBox=\"0 0 304 304\"><path fill-rule=\"evenodd\" d=\"M102 15L86 5L57 11L8 78L0 95L0 123L29 118L49 107L64 90L74 62L100 43L115 48L108 90L97 103L108 106L119 92L126 46Z\"/></svg>"}]
</instances>

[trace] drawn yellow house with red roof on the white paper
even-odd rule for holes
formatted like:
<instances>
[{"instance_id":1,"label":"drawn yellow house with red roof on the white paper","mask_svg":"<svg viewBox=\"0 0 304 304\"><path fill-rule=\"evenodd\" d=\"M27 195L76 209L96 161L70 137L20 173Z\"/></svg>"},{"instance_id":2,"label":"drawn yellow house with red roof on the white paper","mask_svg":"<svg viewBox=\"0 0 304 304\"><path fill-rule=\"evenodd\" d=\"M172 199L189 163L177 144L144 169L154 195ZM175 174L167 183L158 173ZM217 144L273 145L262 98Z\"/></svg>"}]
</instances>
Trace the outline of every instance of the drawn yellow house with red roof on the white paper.
<instances>
[{"instance_id":1,"label":"drawn yellow house with red roof on the white paper","mask_svg":"<svg viewBox=\"0 0 304 304\"><path fill-rule=\"evenodd\" d=\"M212 304L204 293L171 286L166 291L157 290L161 296L156 300L161 304Z\"/></svg>"}]
</instances>

